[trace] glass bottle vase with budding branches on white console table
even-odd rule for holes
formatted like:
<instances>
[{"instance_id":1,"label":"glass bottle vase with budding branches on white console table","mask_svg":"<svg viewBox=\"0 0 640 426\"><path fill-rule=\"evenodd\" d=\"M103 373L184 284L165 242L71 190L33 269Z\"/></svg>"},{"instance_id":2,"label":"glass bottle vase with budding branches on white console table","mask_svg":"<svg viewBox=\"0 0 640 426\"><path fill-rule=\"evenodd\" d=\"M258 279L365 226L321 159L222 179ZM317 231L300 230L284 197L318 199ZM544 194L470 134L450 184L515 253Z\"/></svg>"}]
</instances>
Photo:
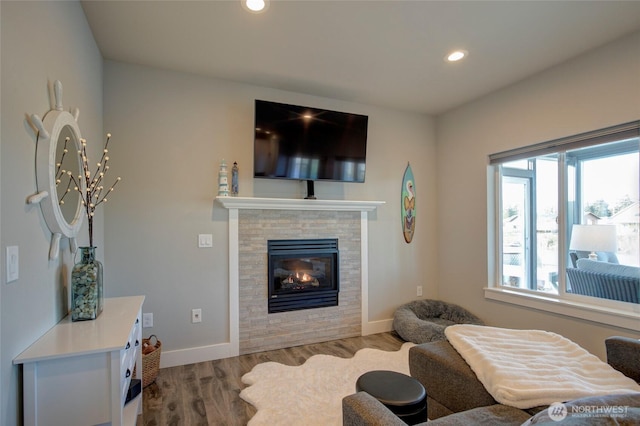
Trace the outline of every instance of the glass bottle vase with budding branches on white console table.
<instances>
[{"instance_id":1,"label":"glass bottle vase with budding branches on white console table","mask_svg":"<svg viewBox=\"0 0 640 426\"><path fill-rule=\"evenodd\" d=\"M71 271L71 320L85 321L94 320L102 313L104 307L104 285L102 281L102 263L96 260L93 245L93 218L96 207L108 201L109 195L114 187L120 182L118 176L116 181L105 191L103 180L109 170L109 141L111 134L107 133L107 141L102 150L102 157L97 163L95 173L89 169L89 158L87 156L87 141L81 139L81 149L79 151L82 164L82 175L78 180L73 175L69 175L75 184L75 189L80 192L81 203L87 214L89 222L89 247L80 247L80 262L76 263ZM80 180L83 184L80 185Z\"/></svg>"}]
</instances>

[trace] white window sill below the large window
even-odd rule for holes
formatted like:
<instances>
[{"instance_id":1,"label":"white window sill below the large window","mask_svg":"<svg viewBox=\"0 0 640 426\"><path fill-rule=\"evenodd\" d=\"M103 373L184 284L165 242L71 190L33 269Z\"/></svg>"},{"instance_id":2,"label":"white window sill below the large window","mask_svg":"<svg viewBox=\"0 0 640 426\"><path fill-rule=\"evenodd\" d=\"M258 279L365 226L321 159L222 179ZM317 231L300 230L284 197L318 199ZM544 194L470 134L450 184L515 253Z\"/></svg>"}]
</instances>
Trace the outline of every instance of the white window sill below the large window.
<instances>
[{"instance_id":1,"label":"white window sill below the large window","mask_svg":"<svg viewBox=\"0 0 640 426\"><path fill-rule=\"evenodd\" d=\"M640 330L640 305L627 307L597 306L576 300L562 299L553 294L533 294L502 288L485 288L484 297L513 305L552 312L572 318L580 318L614 327ZM615 304L615 302L613 303Z\"/></svg>"}]
</instances>

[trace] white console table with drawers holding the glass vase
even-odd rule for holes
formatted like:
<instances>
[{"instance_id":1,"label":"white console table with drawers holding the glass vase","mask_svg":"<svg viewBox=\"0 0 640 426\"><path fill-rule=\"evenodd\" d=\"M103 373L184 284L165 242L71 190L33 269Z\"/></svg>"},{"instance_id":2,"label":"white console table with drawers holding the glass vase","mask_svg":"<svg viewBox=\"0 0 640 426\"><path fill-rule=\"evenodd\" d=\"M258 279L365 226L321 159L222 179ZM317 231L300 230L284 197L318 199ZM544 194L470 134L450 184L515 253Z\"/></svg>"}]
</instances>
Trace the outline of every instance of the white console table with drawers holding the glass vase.
<instances>
[{"instance_id":1,"label":"white console table with drawers holding the glass vase","mask_svg":"<svg viewBox=\"0 0 640 426\"><path fill-rule=\"evenodd\" d=\"M13 360L23 365L25 425L136 424L142 392L125 398L136 363L142 371L143 302L109 298L95 320L66 316Z\"/></svg>"}]
</instances>

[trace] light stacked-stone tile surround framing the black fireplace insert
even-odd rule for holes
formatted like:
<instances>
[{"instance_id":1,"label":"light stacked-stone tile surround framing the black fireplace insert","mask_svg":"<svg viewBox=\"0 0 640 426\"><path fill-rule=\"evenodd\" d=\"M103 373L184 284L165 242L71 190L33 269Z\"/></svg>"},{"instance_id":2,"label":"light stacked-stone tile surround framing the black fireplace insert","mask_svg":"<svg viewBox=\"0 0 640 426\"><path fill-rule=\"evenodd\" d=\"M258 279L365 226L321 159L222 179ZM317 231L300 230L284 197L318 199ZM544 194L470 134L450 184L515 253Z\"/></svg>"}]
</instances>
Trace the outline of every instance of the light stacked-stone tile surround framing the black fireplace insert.
<instances>
[{"instance_id":1,"label":"light stacked-stone tile surround framing the black fireplace insert","mask_svg":"<svg viewBox=\"0 0 640 426\"><path fill-rule=\"evenodd\" d=\"M360 226L354 211L240 211L240 354L361 335ZM267 313L267 240L307 238L338 239L339 306Z\"/></svg>"}]
</instances>

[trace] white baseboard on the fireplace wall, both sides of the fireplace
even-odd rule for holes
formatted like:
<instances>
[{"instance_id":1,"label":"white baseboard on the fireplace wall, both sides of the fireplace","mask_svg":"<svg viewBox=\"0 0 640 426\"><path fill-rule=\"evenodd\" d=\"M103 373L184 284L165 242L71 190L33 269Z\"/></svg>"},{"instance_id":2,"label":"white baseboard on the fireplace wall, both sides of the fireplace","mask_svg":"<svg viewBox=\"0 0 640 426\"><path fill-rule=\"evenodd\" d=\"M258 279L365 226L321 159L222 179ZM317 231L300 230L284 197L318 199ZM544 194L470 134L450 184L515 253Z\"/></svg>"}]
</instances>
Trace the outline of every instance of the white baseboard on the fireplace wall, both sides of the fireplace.
<instances>
[{"instance_id":1,"label":"white baseboard on the fireplace wall, both sides of the fireplace","mask_svg":"<svg viewBox=\"0 0 640 426\"><path fill-rule=\"evenodd\" d=\"M393 330L393 319L372 321L362 327L362 335L384 333ZM160 356L160 368L176 367L179 365L194 364L196 362L212 361L215 359L237 356L238 350L229 342L217 343L196 348L178 349L175 351L162 351Z\"/></svg>"}]
</instances>

